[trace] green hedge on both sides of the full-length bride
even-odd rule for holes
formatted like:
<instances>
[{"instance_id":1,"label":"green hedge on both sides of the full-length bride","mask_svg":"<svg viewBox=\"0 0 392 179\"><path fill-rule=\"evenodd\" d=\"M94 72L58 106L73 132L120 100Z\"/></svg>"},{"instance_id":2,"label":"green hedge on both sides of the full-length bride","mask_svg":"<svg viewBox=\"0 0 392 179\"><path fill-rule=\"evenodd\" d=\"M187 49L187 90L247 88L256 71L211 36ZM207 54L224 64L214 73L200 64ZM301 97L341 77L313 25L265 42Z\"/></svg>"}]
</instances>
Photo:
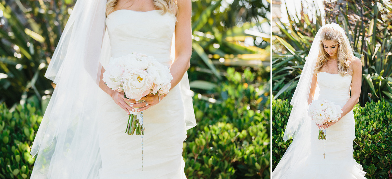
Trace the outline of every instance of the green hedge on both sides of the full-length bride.
<instances>
[{"instance_id":1,"label":"green hedge on both sides of the full-length bride","mask_svg":"<svg viewBox=\"0 0 392 179\"><path fill-rule=\"evenodd\" d=\"M363 166L368 179L388 178L392 172L392 106L382 100L354 106L356 138L354 159ZM284 127L291 112L289 101L272 101L272 168L292 140L283 141Z\"/></svg>"}]
</instances>

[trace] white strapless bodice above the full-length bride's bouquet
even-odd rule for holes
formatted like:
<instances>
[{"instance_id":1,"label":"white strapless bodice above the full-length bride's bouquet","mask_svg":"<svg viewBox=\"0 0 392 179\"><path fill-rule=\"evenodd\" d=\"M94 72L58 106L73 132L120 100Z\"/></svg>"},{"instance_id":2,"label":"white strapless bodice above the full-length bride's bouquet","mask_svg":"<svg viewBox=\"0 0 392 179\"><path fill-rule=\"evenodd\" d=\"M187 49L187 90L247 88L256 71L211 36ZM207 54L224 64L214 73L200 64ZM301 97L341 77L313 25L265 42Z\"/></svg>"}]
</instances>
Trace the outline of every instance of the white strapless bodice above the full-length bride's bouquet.
<instances>
[{"instance_id":1,"label":"white strapless bodice above the full-length bride's bouquet","mask_svg":"<svg viewBox=\"0 0 392 179\"><path fill-rule=\"evenodd\" d=\"M349 74L341 76L339 73L317 73L318 99L327 99L343 107L350 99L351 79L352 76Z\"/></svg>"}]
</instances>

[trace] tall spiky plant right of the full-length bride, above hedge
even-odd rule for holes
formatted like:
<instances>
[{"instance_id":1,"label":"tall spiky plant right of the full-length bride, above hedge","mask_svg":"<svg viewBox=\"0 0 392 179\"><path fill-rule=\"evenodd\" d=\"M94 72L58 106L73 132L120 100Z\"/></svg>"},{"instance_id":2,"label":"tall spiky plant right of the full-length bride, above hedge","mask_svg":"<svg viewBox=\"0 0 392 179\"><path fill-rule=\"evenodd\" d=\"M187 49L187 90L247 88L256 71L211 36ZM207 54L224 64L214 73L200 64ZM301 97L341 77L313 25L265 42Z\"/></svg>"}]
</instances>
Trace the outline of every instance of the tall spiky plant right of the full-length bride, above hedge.
<instances>
[{"instance_id":1,"label":"tall spiky plant right of the full-length bride, above hedge","mask_svg":"<svg viewBox=\"0 0 392 179\"><path fill-rule=\"evenodd\" d=\"M334 7L334 8L332 8ZM384 98L392 101L392 10L391 2L377 0L330 2L328 22L339 22L362 56L363 87L361 104ZM348 16L350 14L350 16Z\"/></svg>"}]
</instances>

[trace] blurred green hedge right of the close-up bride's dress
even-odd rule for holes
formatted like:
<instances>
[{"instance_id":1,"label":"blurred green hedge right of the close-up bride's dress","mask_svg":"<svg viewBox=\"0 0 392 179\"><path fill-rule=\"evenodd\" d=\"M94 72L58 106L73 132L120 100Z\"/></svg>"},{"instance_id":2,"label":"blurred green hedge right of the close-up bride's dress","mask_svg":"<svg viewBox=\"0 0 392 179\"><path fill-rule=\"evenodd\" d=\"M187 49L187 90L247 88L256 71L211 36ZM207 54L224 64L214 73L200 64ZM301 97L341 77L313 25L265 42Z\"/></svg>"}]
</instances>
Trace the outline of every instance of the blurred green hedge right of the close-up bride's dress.
<instances>
[{"instance_id":1,"label":"blurred green hedge right of the close-up bride's dress","mask_svg":"<svg viewBox=\"0 0 392 179\"><path fill-rule=\"evenodd\" d=\"M269 85L257 75L229 68L216 103L195 95L198 125L183 149L188 179L270 178Z\"/></svg>"}]
</instances>

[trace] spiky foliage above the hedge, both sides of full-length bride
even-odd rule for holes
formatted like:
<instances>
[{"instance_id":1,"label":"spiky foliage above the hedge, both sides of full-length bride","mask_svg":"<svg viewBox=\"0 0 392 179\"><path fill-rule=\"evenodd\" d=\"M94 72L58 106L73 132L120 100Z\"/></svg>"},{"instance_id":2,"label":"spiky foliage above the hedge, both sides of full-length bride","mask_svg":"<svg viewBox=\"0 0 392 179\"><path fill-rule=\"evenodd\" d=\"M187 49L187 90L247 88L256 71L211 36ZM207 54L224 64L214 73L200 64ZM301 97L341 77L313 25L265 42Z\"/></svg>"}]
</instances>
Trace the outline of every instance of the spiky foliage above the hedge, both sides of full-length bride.
<instances>
[{"instance_id":1,"label":"spiky foliage above the hedge, both sides of full-length bride","mask_svg":"<svg viewBox=\"0 0 392 179\"><path fill-rule=\"evenodd\" d=\"M315 6L307 4L308 7ZM322 8L322 7L320 7ZM290 24L278 22L272 47L272 94L291 99L314 36L323 24L337 23L346 31L354 55L362 61L359 104L385 99L392 101L392 3L386 0L325 0L321 15L289 15ZM301 18L297 18L297 16ZM315 18L309 18L316 16ZM325 19L325 22L323 22Z\"/></svg>"}]
</instances>

